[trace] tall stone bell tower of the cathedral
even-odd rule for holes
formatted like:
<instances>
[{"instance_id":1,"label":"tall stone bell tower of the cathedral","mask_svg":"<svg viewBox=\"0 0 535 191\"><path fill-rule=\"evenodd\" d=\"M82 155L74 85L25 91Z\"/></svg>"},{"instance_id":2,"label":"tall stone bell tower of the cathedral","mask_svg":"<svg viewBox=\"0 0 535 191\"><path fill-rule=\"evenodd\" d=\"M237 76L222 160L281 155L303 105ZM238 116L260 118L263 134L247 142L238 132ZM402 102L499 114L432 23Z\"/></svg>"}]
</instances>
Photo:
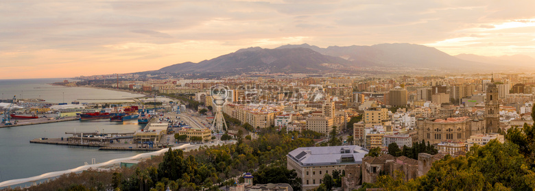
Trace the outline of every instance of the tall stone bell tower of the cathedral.
<instances>
[{"instance_id":1,"label":"tall stone bell tower of the cathedral","mask_svg":"<svg viewBox=\"0 0 535 191\"><path fill-rule=\"evenodd\" d=\"M494 77L487 85L485 102L485 133L497 133L500 127L500 104L498 99L498 87L494 84Z\"/></svg>"}]
</instances>

